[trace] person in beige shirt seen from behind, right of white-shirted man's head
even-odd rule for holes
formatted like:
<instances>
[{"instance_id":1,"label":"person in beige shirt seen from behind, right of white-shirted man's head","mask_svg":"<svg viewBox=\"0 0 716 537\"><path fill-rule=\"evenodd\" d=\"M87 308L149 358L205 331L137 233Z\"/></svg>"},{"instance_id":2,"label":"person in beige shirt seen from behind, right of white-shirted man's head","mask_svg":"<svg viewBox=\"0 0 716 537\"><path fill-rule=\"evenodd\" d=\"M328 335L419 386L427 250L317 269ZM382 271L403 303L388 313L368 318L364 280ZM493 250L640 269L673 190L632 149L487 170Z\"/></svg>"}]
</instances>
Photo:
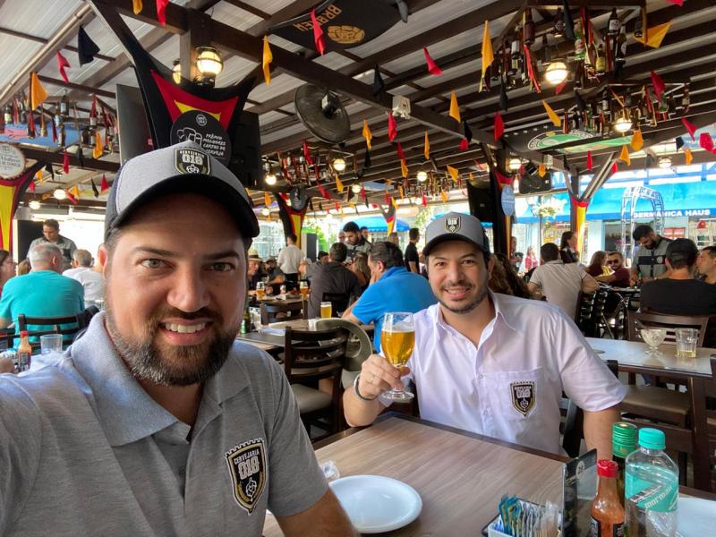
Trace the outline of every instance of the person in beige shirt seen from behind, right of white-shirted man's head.
<instances>
[{"instance_id":1,"label":"person in beige shirt seen from behind, right of white-shirted man's head","mask_svg":"<svg viewBox=\"0 0 716 537\"><path fill-rule=\"evenodd\" d=\"M547 302L557 305L567 317L574 319L579 292L593 293L599 289L599 284L576 262L565 263L559 255L557 244L543 244L541 265L534 269L527 286L533 294L541 291Z\"/></svg>"}]
</instances>

